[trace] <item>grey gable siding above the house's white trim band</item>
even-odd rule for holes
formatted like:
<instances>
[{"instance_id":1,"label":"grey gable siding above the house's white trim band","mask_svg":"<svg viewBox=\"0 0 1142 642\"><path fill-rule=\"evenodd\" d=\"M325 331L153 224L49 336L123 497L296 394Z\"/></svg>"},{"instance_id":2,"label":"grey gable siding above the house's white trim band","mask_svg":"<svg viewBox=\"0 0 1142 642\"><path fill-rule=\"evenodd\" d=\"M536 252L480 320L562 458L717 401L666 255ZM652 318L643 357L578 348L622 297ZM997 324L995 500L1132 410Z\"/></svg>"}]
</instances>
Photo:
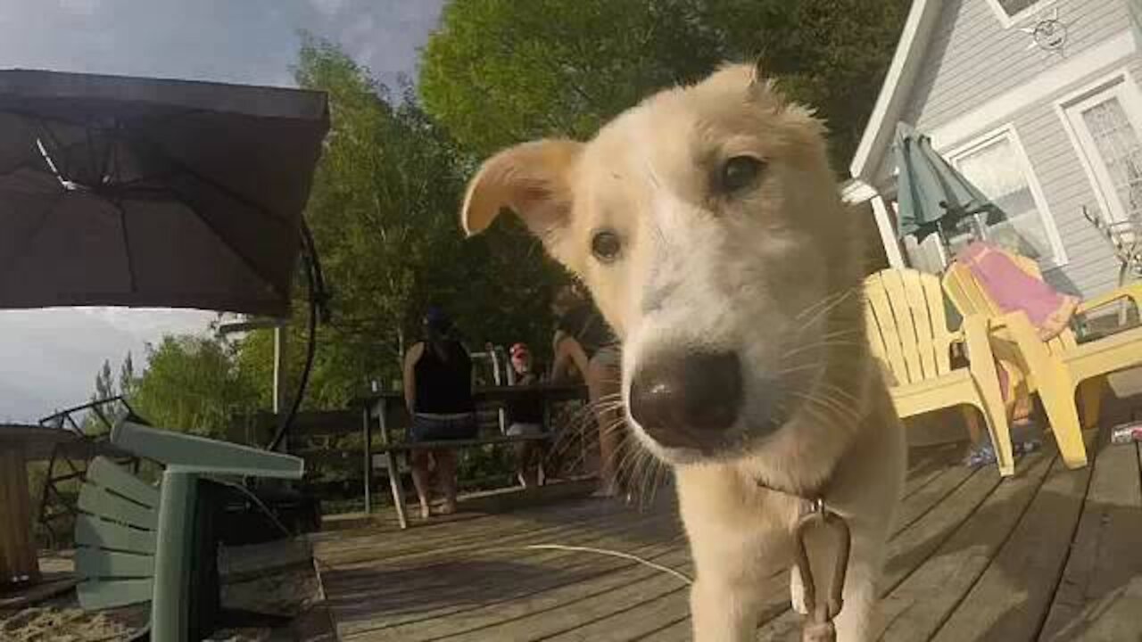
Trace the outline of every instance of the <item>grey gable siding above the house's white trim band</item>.
<instances>
[{"instance_id":1,"label":"grey gable siding above the house's white trim band","mask_svg":"<svg viewBox=\"0 0 1142 642\"><path fill-rule=\"evenodd\" d=\"M1126 3L1136 0L1056 0L1059 19L1067 25L1065 56L1029 49L1024 18L1004 29L987 0L946 0L936 33L911 89L904 120L932 130L979 105L1048 71L1064 59L1100 45L1128 29Z\"/></svg>"}]
</instances>

